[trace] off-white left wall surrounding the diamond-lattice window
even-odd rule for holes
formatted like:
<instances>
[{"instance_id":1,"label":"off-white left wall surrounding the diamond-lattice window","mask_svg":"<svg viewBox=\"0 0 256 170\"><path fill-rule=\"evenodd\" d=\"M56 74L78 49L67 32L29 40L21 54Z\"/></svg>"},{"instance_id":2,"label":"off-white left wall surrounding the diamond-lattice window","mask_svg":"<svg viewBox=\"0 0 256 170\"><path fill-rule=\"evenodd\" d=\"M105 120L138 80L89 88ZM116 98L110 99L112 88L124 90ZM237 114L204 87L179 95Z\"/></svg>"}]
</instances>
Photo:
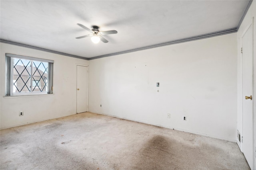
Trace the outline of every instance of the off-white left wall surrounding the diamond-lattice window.
<instances>
[{"instance_id":1,"label":"off-white left wall surrounding the diamond-lattice window","mask_svg":"<svg viewBox=\"0 0 256 170\"><path fill-rule=\"evenodd\" d=\"M5 43L1 43L0 45L1 128L76 113L76 64L88 65L88 61ZM4 97L5 53L54 60L54 94L44 96ZM24 116L19 116L19 111L24 111Z\"/></svg>"}]
</instances>

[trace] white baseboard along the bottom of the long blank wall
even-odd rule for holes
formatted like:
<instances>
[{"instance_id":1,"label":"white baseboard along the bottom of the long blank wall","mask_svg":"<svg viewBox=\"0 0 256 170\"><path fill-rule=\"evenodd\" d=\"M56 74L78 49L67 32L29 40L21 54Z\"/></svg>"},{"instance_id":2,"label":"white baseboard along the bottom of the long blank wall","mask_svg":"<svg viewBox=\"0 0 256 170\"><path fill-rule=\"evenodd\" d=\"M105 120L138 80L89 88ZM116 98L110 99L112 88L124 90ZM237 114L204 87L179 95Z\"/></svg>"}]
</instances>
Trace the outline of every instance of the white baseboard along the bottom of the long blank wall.
<instances>
[{"instance_id":1,"label":"white baseboard along the bottom of the long blank wall","mask_svg":"<svg viewBox=\"0 0 256 170\"><path fill-rule=\"evenodd\" d=\"M214 135L208 135L208 134L205 134L205 133L199 133L199 132L189 131L189 130L185 130L185 129L179 129L179 128L175 128L175 127L170 127L170 126L164 126L164 125L159 125L159 124L155 124L155 123L150 123L150 122L146 122L146 121L140 121L140 120L136 120L136 119L129 119L129 118L126 118L126 117L109 115L109 114L105 114L105 113L99 113L99 112L93 112L93 111L89 111L89 112L97 113L97 114L100 114L100 115L108 115L108 116L117 117L117 118L120 118L120 119L136 121L136 122L145 123L145 124L148 124L148 125L154 125L154 126L164 127L164 128L168 128L168 129L174 129L174 130L177 130L177 131L183 131L183 132L187 132L187 133L193 133L193 134L196 134L196 135L202 135L202 136L206 136L206 137L212 137L212 138L215 138L215 139L221 139L221 140L224 140L224 141L230 141L230 142L237 143L237 141L233 140L233 139L218 137L218 136L214 136Z\"/></svg>"}]
</instances>

